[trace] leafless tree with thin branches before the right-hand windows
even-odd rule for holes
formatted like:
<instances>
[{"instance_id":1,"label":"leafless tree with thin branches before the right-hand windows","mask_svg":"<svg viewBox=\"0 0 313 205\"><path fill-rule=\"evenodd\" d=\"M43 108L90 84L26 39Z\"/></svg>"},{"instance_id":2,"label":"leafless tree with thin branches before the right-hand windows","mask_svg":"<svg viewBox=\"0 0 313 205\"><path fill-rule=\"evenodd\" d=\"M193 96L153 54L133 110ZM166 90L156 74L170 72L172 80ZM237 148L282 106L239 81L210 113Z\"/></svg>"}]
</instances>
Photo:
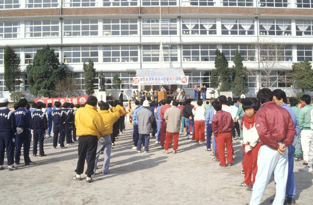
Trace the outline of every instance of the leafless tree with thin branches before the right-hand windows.
<instances>
[{"instance_id":1,"label":"leafless tree with thin branches before the right-hand windows","mask_svg":"<svg viewBox=\"0 0 313 205\"><path fill-rule=\"evenodd\" d=\"M261 82L261 87L265 88L277 87L277 84L278 87L285 87L283 85L286 83L291 84L291 70L288 71L289 69L281 63L292 60L292 56L285 55L285 50L291 46L275 42L268 37L259 38L254 45L258 51L257 63L260 65L260 73L249 70L249 76L255 76Z\"/></svg>"}]
</instances>

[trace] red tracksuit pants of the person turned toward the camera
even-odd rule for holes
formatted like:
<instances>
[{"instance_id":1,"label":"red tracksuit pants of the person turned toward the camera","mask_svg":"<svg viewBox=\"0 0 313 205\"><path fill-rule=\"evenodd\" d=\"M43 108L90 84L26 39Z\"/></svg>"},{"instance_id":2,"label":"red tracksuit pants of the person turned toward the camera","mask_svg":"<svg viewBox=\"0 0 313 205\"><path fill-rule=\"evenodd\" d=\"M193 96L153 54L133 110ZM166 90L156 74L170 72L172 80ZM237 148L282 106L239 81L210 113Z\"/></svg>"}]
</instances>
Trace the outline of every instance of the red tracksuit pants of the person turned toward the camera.
<instances>
[{"instance_id":1,"label":"red tracksuit pants of the person turned toward the camera","mask_svg":"<svg viewBox=\"0 0 313 205\"><path fill-rule=\"evenodd\" d=\"M258 171L257 161L260 147L260 143L257 143L251 151L244 154L244 183L247 185L254 184L255 182L255 176Z\"/></svg>"}]
</instances>

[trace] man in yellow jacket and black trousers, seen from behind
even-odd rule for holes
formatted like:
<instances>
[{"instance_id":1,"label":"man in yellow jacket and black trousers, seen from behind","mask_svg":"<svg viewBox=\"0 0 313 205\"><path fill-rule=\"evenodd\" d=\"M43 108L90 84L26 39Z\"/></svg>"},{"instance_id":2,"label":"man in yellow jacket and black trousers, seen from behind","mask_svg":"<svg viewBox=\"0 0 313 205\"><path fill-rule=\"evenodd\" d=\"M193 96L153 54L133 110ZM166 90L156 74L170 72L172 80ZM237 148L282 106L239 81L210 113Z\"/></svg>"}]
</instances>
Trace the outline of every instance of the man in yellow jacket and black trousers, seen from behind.
<instances>
[{"instance_id":1,"label":"man in yellow jacket and black trousers, seen from behind","mask_svg":"<svg viewBox=\"0 0 313 205\"><path fill-rule=\"evenodd\" d=\"M81 180L80 175L84 172L87 155L87 169L85 172L87 183L94 181L91 175L94 174L98 139L100 136L105 135L106 130L102 117L96 110L97 102L98 99L95 96L90 96L85 107L78 109L75 113L76 134L79 138L76 175L73 179Z\"/></svg>"}]
</instances>

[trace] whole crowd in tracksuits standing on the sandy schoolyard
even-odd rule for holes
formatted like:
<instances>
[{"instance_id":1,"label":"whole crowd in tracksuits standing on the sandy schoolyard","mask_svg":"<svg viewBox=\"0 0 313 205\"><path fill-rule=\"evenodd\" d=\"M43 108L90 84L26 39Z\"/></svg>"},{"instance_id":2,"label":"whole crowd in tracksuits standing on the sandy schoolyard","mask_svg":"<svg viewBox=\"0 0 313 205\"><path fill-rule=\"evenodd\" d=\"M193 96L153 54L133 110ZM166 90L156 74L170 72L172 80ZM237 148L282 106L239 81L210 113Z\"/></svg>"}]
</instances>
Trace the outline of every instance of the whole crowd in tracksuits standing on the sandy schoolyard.
<instances>
[{"instance_id":1,"label":"whole crowd in tracksuits standing on the sandy schoolyard","mask_svg":"<svg viewBox=\"0 0 313 205\"><path fill-rule=\"evenodd\" d=\"M120 100L122 97L120 96ZM205 97L204 97L205 99ZM257 98L236 100L219 96L212 103L203 99L185 102L167 98L160 102L135 100L128 110L133 125L133 145L137 153L149 152L150 138L160 144L164 154L176 154L180 133L195 146L206 146L212 160L220 167L233 166L233 140L236 133L242 144L242 171L240 187L252 191L250 205L260 204L269 179L274 175L276 186L273 204L295 203L294 160L303 155L304 172L313 172L313 106L309 95L301 97L301 108L296 98L290 98L290 106L283 90L259 90ZM78 162L74 180L81 180L87 162L86 182L93 182L100 153L104 153L101 173L109 172L110 153L115 139L125 129L126 108L123 102L103 102L90 96L84 106L54 102L54 107L44 103L33 104L19 100L15 111L7 108L8 100L0 99L0 168L3 168L4 151L7 152L8 170L17 169L21 146L26 165L35 164L29 158L31 136L33 156L44 157L44 137L49 138L53 125L53 148L66 148L78 138ZM205 136L206 130L206 136ZM73 135L72 135L73 133ZM212 143L212 146L211 146ZM226 146L226 157L225 157ZM15 159L15 161L14 161Z\"/></svg>"}]
</instances>

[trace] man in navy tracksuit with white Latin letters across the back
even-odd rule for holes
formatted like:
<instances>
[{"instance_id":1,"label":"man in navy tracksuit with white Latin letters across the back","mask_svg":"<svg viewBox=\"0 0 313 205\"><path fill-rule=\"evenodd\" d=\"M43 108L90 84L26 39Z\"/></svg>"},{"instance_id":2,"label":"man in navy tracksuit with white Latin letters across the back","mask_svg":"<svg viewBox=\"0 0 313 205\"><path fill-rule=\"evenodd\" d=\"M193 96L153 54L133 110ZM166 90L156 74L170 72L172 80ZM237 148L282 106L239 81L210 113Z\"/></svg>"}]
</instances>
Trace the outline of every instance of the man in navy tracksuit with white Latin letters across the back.
<instances>
[{"instance_id":1,"label":"man in navy tracksuit with white Latin letters across the back","mask_svg":"<svg viewBox=\"0 0 313 205\"><path fill-rule=\"evenodd\" d=\"M26 165L33 165L36 163L32 162L29 158L31 113L25 108L27 105L25 98L20 99L18 104L19 108L14 111L16 127L19 130L15 135L15 164L18 165L20 163L21 148L23 145L24 162Z\"/></svg>"}]
</instances>

